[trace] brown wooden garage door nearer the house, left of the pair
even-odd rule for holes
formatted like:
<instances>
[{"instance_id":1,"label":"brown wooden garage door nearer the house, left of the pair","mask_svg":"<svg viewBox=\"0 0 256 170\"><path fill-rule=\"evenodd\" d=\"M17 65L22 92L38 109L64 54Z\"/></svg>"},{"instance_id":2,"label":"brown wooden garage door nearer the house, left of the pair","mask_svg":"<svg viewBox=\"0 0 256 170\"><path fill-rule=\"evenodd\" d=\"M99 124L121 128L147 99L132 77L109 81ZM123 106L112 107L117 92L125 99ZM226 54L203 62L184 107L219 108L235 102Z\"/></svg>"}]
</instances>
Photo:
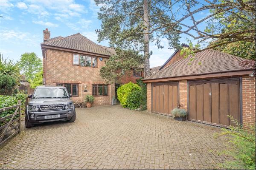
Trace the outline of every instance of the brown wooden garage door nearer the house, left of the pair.
<instances>
[{"instance_id":1,"label":"brown wooden garage door nearer the house, left of the pair","mask_svg":"<svg viewBox=\"0 0 256 170\"><path fill-rule=\"evenodd\" d=\"M178 82L152 84L151 111L172 114L178 103Z\"/></svg>"}]
</instances>

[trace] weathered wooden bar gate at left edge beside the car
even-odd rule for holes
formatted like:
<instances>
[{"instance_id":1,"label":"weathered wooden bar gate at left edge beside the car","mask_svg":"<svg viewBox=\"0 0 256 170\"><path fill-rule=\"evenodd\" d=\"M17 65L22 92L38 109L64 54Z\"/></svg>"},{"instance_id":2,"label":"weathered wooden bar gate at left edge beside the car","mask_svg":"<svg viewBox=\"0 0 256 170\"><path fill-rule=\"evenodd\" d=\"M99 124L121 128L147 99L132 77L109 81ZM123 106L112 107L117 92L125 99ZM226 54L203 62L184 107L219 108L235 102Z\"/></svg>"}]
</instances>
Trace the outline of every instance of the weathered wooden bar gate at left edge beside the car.
<instances>
[{"instance_id":1,"label":"weathered wooden bar gate at left edge beside the car","mask_svg":"<svg viewBox=\"0 0 256 170\"><path fill-rule=\"evenodd\" d=\"M0 112L3 112L16 108L13 114L0 118L0 122L5 123L5 125L0 126L0 146L8 139L10 139L12 136L16 135L17 133L20 133L20 103L21 102L19 100L17 105L0 109ZM8 121L7 119L10 120Z\"/></svg>"}]
</instances>

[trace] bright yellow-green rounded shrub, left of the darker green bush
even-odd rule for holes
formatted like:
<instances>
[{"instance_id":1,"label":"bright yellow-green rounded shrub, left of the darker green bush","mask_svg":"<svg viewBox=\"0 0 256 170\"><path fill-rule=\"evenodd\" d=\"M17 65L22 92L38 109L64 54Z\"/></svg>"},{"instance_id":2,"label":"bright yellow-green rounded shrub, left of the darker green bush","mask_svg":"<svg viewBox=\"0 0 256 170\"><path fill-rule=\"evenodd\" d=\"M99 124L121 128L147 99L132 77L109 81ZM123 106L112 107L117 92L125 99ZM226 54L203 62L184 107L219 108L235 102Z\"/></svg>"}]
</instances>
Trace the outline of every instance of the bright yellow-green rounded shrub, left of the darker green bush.
<instances>
[{"instance_id":1,"label":"bright yellow-green rounded shrub, left of the darker green bush","mask_svg":"<svg viewBox=\"0 0 256 170\"><path fill-rule=\"evenodd\" d=\"M127 108L127 98L131 92L141 90L140 86L132 82L121 85L117 89L117 99L123 108Z\"/></svg>"}]
</instances>

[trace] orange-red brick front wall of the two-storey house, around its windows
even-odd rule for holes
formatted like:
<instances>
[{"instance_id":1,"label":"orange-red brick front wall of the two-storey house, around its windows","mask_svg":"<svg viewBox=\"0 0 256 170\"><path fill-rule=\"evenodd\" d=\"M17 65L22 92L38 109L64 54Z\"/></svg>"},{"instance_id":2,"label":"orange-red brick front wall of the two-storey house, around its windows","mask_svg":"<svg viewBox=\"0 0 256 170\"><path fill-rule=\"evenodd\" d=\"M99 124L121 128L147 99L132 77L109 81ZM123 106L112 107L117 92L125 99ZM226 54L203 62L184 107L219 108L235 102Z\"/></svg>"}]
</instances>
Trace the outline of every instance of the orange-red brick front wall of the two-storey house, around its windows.
<instances>
[{"instance_id":1,"label":"orange-red brick front wall of the two-storey house, around its windows","mask_svg":"<svg viewBox=\"0 0 256 170\"><path fill-rule=\"evenodd\" d=\"M100 77L99 71L107 58L99 61L98 68L73 65L73 53L47 49L46 55L46 85L56 85L56 83L76 83L79 84L79 96L72 97L74 102L84 102L84 96L92 94L92 84L106 84ZM84 88L84 85L87 88ZM87 92L84 92L87 90ZM114 85L108 85L108 96L95 96L93 105L110 105L114 95Z\"/></svg>"}]
</instances>

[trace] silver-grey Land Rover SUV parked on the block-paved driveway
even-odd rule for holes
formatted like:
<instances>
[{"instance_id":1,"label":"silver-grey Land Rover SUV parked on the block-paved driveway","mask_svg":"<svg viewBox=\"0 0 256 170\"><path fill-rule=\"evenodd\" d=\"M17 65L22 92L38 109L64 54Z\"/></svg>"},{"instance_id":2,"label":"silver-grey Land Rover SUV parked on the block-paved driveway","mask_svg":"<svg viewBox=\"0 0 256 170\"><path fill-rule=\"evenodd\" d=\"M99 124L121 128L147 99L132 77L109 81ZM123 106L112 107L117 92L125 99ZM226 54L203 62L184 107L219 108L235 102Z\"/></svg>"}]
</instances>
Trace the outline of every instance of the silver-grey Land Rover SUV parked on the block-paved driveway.
<instances>
[{"instance_id":1,"label":"silver-grey Land Rover SUV parked on the block-paved driveway","mask_svg":"<svg viewBox=\"0 0 256 170\"><path fill-rule=\"evenodd\" d=\"M76 110L65 87L61 86L38 86L26 106L26 127L33 127L34 124L76 120Z\"/></svg>"}]
</instances>

